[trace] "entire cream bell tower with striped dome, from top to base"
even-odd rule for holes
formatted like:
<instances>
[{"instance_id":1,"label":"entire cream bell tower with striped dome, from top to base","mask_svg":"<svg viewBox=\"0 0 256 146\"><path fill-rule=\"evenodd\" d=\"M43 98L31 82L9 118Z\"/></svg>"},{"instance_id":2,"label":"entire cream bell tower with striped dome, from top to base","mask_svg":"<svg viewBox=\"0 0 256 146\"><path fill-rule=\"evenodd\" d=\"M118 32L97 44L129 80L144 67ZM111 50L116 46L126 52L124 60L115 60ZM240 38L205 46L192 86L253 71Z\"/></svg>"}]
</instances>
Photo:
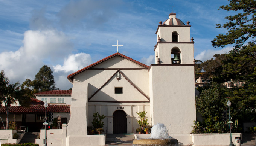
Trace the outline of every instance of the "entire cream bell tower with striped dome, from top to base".
<instances>
[{"instance_id":1,"label":"entire cream bell tower with striped dome, from top to base","mask_svg":"<svg viewBox=\"0 0 256 146\"><path fill-rule=\"evenodd\" d=\"M149 69L152 124L165 124L171 136L184 145L192 143L191 125L196 119L194 41L190 39L190 27L175 13L159 22L155 64Z\"/></svg>"}]
</instances>

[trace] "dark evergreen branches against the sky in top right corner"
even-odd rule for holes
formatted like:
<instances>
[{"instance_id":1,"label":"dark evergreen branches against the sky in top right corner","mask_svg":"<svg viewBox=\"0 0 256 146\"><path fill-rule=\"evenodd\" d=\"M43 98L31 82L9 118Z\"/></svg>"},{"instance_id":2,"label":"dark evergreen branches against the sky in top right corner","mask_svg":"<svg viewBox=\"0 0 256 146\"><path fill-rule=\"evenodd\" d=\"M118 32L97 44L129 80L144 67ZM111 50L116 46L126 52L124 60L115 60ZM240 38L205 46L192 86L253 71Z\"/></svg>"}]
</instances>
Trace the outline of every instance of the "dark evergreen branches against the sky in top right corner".
<instances>
[{"instance_id":1,"label":"dark evergreen branches against the sky in top right corner","mask_svg":"<svg viewBox=\"0 0 256 146\"><path fill-rule=\"evenodd\" d=\"M212 41L215 47L234 45L239 50L246 42L254 44L256 41L256 1L229 0L229 5L221 6L223 10L241 12L233 16L226 16L226 24L217 24L216 28L226 28L228 33L219 34ZM255 44L254 44L255 45Z\"/></svg>"}]
</instances>

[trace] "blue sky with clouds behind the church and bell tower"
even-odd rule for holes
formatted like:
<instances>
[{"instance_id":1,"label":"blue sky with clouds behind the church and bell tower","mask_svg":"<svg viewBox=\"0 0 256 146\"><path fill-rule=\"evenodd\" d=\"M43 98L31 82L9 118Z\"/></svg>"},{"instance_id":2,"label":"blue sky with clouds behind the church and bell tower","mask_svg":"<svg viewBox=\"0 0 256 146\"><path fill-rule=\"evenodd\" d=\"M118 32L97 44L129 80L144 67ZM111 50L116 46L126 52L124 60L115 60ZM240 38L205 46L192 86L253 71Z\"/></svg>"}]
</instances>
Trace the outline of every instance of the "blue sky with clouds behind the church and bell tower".
<instances>
[{"instance_id":1,"label":"blue sky with clouds behind the church and bell tower","mask_svg":"<svg viewBox=\"0 0 256 146\"><path fill-rule=\"evenodd\" d=\"M72 88L67 75L119 52L154 63L155 31L171 13L190 22L195 59L206 61L231 47L213 48L216 29L234 12L218 10L227 0L0 0L0 70L11 82L33 80L46 64L56 87Z\"/></svg>"}]
</instances>

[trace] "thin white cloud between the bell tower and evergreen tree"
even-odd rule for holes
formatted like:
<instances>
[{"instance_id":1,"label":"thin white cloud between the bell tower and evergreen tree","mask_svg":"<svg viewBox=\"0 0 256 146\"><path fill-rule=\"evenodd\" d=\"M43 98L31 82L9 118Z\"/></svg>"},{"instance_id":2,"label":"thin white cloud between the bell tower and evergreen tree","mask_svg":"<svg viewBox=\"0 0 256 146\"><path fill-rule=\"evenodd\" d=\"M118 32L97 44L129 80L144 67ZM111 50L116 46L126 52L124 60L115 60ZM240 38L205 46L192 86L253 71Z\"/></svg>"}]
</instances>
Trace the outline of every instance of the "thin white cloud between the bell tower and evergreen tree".
<instances>
[{"instance_id":1,"label":"thin white cloud between the bell tower and evergreen tree","mask_svg":"<svg viewBox=\"0 0 256 146\"><path fill-rule=\"evenodd\" d=\"M215 55L215 54L225 54L225 53L229 52L231 49L232 49L232 47L225 47L220 50L217 50L217 49L204 50L203 52L201 52L200 54L198 54L195 57L195 60L201 60L204 62L206 60L213 58L213 55Z\"/></svg>"}]
</instances>

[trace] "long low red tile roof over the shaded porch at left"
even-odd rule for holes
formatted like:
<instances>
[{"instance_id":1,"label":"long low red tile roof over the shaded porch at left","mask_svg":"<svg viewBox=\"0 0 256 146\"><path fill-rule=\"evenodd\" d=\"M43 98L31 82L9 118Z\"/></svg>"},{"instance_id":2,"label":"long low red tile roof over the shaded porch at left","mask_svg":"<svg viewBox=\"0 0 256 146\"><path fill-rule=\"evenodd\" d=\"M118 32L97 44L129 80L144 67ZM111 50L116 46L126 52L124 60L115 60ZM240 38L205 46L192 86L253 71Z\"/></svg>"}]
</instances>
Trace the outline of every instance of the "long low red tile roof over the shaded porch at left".
<instances>
[{"instance_id":1,"label":"long low red tile roof over the shaded porch at left","mask_svg":"<svg viewBox=\"0 0 256 146\"><path fill-rule=\"evenodd\" d=\"M70 112L70 105L53 105L50 104L47 107L47 112ZM0 107L0 113L6 113L5 106ZM36 113L45 113L44 105L31 105L30 107L21 107L21 106L11 106L9 113L16 114L36 114Z\"/></svg>"}]
</instances>

